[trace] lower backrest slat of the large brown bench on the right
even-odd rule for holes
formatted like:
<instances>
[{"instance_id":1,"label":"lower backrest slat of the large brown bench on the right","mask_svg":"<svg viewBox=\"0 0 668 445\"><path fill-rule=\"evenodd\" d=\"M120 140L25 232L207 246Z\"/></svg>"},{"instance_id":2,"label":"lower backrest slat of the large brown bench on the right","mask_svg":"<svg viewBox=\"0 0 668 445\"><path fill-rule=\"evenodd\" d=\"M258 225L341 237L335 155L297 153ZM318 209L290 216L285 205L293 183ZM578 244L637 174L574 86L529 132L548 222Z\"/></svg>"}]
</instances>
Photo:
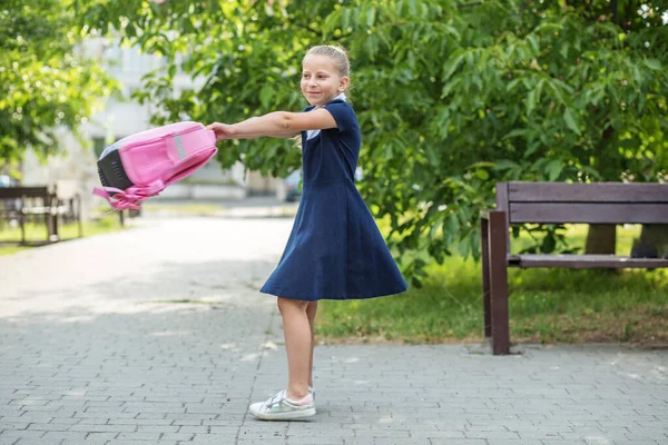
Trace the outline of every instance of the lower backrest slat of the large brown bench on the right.
<instances>
[{"instance_id":1,"label":"lower backrest slat of the large brown bench on the right","mask_svg":"<svg viewBox=\"0 0 668 445\"><path fill-rule=\"evenodd\" d=\"M510 224L668 224L668 204L510 202Z\"/></svg>"}]
</instances>

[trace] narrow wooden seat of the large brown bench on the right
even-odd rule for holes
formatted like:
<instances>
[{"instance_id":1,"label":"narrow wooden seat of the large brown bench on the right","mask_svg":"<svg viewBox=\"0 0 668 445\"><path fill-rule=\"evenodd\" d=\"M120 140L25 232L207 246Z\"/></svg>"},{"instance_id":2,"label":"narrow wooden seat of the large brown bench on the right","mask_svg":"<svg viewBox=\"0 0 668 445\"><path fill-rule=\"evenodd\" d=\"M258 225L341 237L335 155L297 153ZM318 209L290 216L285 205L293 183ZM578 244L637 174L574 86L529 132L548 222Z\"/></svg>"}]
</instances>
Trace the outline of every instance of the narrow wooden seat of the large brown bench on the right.
<instances>
[{"instance_id":1,"label":"narrow wooden seat of the large brown bench on the right","mask_svg":"<svg viewBox=\"0 0 668 445\"><path fill-rule=\"evenodd\" d=\"M512 267L566 267L587 268L657 268L668 267L665 258L631 258L616 255L509 255Z\"/></svg>"}]
</instances>

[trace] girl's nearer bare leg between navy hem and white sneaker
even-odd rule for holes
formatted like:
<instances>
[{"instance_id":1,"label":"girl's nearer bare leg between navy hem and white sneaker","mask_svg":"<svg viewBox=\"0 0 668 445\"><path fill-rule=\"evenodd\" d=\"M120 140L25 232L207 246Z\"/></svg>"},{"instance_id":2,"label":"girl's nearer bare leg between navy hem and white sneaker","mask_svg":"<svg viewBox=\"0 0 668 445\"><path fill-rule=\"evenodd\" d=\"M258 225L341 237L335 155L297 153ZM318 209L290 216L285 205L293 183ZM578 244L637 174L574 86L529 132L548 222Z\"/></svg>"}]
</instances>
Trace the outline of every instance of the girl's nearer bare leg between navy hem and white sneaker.
<instances>
[{"instance_id":1,"label":"girl's nearer bare leg between navy hem and white sneaker","mask_svg":"<svg viewBox=\"0 0 668 445\"><path fill-rule=\"evenodd\" d=\"M278 297L287 352L287 397L298 400L308 395L313 337L306 308L308 301Z\"/></svg>"}]
</instances>

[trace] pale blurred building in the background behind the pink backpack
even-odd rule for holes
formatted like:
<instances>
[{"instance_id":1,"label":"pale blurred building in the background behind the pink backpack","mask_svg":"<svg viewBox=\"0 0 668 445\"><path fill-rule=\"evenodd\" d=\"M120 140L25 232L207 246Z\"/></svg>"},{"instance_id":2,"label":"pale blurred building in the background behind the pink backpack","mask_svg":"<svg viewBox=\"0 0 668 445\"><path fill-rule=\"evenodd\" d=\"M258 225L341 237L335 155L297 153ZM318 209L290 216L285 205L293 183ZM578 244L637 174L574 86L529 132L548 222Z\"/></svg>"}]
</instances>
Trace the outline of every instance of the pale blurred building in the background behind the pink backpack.
<instances>
[{"instance_id":1,"label":"pale blurred building in the background behind the pink backpack","mask_svg":"<svg viewBox=\"0 0 668 445\"><path fill-rule=\"evenodd\" d=\"M70 131L62 128L58 135L63 149L40 164L33 152L28 151L22 162L22 185L58 185L61 192L79 192L84 200L84 215L105 202L94 197L91 190L99 186L96 161L108 145L126 136L151 127L155 111L150 103L139 105L130 99L134 90L141 88L144 75L165 65L164 58L144 55L135 47L121 47L108 38L90 38L80 48L81 56L100 61L122 86L124 100L109 98L100 112L81 126L81 136L88 147L80 144ZM203 79L195 81L185 73L174 79L175 95L185 89L198 88ZM223 169L212 159L184 181L169 186L159 197L151 199L242 199L250 195L283 195L283 181L267 178L257 171L246 171L238 162Z\"/></svg>"}]
</instances>

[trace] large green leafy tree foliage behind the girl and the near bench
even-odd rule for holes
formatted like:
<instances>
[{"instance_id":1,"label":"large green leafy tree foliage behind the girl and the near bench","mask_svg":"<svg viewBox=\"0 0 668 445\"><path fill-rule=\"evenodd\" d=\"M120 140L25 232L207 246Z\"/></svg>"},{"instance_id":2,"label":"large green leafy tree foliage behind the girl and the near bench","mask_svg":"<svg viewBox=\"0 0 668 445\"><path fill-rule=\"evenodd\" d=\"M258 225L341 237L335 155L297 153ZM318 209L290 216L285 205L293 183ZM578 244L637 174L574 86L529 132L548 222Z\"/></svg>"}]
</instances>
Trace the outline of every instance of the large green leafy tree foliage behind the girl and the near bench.
<instances>
[{"instance_id":1,"label":"large green leafy tree foliage behind the girl and the near bench","mask_svg":"<svg viewBox=\"0 0 668 445\"><path fill-rule=\"evenodd\" d=\"M361 191L419 283L425 251L479 251L479 209L502 180L662 180L668 170L666 1L76 0L168 67L138 95L177 118L234 122L301 109L301 59L348 48L363 130ZM617 6L616 10L611 8ZM639 13L641 11L641 13ZM180 97L174 77L202 79ZM224 167L285 175L292 141L225 142ZM544 231L544 230L543 230ZM538 250L559 247L547 228Z\"/></svg>"}]
</instances>

